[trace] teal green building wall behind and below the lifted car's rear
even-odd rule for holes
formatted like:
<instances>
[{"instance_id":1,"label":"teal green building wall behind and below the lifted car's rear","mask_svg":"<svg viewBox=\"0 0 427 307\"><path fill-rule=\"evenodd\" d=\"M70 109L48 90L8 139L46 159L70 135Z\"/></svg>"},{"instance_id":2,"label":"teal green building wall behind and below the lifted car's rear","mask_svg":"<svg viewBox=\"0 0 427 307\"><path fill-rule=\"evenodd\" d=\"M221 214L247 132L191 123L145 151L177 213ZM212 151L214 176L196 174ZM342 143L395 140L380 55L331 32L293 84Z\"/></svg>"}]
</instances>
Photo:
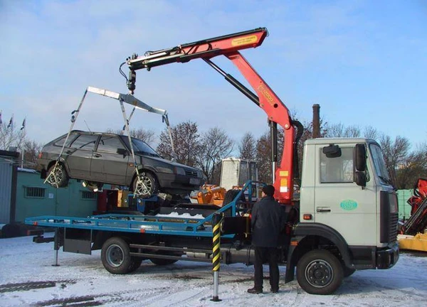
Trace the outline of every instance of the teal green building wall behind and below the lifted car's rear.
<instances>
[{"instance_id":1,"label":"teal green building wall behind and below the lifted car's rear","mask_svg":"<svg viewBox=\"0 0 427 307\"><path fill-rule=\"evenodd\" d=\"M18 170L16 184L15 222L26 217L58 215L87 217L97 210L97 193L70 179L67 188L53 188L43 183L40 173Z\"/></svg>"}]
</instances>

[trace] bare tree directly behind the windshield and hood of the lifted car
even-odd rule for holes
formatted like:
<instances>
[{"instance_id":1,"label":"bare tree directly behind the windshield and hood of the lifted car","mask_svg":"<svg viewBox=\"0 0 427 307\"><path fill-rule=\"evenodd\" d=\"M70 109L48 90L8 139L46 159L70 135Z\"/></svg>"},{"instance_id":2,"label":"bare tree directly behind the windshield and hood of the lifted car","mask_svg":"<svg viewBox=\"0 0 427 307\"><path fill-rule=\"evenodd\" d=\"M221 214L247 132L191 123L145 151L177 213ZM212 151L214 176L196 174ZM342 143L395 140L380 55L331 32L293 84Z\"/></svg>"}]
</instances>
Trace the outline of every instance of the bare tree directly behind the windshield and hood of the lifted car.
<instances>
[{"instance_id":1,"label":"bare tree directly behind the windshield and hood of the lifted car","mask_svg":"<svg viewBox=\"0 0 427 307\"><path fill-rule=\"evenodd\" d=\"M199 131L195 122L181 122L172 126L172 139L176 152L176 162L188 166L196 165L196 154L200 151ZM172 146L169 138L169 132L165 128L160 134L160 142L157 146L157 152L172 160Z\"/></svg>"}]
</instances>

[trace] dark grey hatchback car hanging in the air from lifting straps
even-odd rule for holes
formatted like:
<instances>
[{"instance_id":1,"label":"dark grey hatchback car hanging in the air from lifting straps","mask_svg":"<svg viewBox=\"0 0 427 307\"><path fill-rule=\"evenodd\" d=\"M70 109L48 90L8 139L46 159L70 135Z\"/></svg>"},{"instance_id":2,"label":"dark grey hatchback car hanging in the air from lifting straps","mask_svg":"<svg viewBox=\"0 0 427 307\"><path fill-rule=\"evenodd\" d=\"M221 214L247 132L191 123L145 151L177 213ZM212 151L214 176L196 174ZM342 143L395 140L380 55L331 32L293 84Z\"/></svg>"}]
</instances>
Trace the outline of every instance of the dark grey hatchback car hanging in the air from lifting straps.
<instances>
[{"instance_id":1,"label":"dark grey hatchback car hanging in the air from lifting straps","mask_svg":"<svg viewBox=\"0 0 427 307\"><path fill-rule=\"evenodd\" d=\"M129 138L120 134L73 130L58 160L66 136L43 146L38 158L41 178L48 177L53 186L65 187L74 178L92 190L110 183L147 198L159 192L186 195L204 183L198 169L166 160L144 141L132 138L135 168Z\"/></svg>"}]
</instances>

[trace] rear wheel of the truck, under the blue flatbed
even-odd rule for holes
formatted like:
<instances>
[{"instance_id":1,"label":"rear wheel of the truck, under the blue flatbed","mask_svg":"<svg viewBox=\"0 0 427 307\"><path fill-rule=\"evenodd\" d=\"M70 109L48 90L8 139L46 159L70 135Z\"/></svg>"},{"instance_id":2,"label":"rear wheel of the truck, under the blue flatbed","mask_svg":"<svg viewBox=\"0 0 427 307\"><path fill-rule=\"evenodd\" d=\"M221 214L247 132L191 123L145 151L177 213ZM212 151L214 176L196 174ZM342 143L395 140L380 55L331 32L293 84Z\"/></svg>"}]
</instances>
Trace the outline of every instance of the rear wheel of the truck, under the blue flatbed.
<instances>
[{"instance_id":1,"label":"rear wheel of the truck, under the blue flatbed","mask_svg":"<svg viewBox=\"0 0 427 307\"><path fill-rule=\"evenodd\" d=\"M129 244L120 237L107 239L102 245L101 260L105 269L112 274L128 273L132 264Z\"/></svg>"}]
</instances>

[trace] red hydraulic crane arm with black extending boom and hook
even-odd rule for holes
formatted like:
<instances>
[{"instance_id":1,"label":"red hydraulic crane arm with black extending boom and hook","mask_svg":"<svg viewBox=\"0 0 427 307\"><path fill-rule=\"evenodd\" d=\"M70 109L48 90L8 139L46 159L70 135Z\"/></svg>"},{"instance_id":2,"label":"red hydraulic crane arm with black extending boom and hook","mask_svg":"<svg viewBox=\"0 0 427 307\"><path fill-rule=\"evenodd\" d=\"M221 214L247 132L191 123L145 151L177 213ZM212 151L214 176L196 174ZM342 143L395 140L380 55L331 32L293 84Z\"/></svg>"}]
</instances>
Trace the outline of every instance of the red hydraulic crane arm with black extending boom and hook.
<instances>
[{"instance_id":1,"label":"red hydraulic crane arm with black extending boom and hook","mask_svg":"<svg viewBox=\"0 0 427 307\"><path fill-rule=\"evenodd\" d=\"M186 63L196 58L203 59L212 68L219 72L223 77L241 91L246 97L258 105L268 116L271 127L272 139L272 161L273 161L273 185L275 186L275 198L280 203L291 203L293 194L294 167L297 170L295 150L297 141L302 131L298 129L297 138L295 138L295 127L299 123L292 121L289 110L282 101L275 95L273 90L252 68L251 64L243 58L239 50L247 48L256 48L261 45L268 36L266 28L255 28L251 31L238 32L226 36L218 36L194 43L186 43L173 48L167 48L157 51L147 51L144 56L137 54L127 58L126 63L130 68L127 85L131 93L135 90L136 70L150 70L155 66L167 65L170 63ZM233 76L224 72L216 64L211 62L211 58L224 55L228 60L236 65L238 70L253 87L255 93L245 87ZM277 160L277 124L284 129L283 156L280 166L276 167ZM295 172L296 173L296 172Z\"/></svg>"}]
</instances>

